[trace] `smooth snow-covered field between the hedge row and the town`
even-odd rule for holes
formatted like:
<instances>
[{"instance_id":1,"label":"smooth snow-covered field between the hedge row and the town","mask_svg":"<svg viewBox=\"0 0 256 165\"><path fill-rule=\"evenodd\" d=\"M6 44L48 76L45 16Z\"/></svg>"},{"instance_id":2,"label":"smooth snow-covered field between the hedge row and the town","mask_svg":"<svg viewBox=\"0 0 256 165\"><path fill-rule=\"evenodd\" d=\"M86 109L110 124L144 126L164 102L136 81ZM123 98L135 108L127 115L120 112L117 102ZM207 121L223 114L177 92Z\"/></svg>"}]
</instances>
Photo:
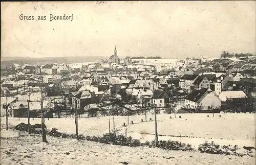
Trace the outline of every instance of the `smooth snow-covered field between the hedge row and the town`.
<instances>
[{"instance_id":1,"label":"smooth snow-covered field between the hedge row and the town","mask_svg":"<svg viewBox=\"0 0 256 165\"><path fill-rule=\"evenodd\" d=\"M181 118L179 118L179 115ZM207 117L209 115L209 117ZM157 128L159 140L172 139L180 140L182 143L189 143L197 148L206 140L208 142L214 141L220 145L238 145L255 147L255 114L249 113L221 113L215 114L159 114L157 115ZM172 119L170 119L172 116ZM152 121L149 121L152 118ZM145 115L129 116L129 125L127 128L127 136L145 140L154 140L155 121L154 115L147 115L147 122ZM113 129L113 116L81 118L78 120L79 134L87 135L102 135L109 132L109 120L111 130ZM133 121L134 124L130 124ZM10 118L11 125L19 123L27 123L26 118ZM5 125L6 120L1 117L1 125ZM40 123L40 119L31 119L31 124ZM75 133L75 124L73 118L61 119L46 119L46 126L48 129L57 128L60 132ZM115 128L121 129L120 133L125 132L125 127L122 124L127 124L127 116L115 116ZM172 136L180 136L172 137ZM186 137L187 136L187 137Z\"/></svg>"}]
</instances>

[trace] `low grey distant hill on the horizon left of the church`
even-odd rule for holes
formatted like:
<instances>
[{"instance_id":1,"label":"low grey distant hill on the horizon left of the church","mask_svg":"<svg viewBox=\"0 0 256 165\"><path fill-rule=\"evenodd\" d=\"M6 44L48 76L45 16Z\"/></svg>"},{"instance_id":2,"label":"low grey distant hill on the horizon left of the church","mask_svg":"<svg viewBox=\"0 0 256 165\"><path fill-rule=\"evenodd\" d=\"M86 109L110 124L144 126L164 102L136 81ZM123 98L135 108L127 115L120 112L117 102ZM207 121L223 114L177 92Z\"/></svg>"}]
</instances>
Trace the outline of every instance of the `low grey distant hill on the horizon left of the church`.
<instances>
[{"instance_id":1,"label":"low grey distant hill on the horizon left of the church","mask_svg":"<svg viewBox=\"0 0 256 165\"><path fill-rule=\"evenodd\" d=\"M92 62L108 57L104 56L92 56L92 57L43 57L43 58L31 58L31 57L1 57L1 68L10 67L13 63L20 65L44 65L53 63L80 63L80 62Z\"/></svg>"}]
</instances>

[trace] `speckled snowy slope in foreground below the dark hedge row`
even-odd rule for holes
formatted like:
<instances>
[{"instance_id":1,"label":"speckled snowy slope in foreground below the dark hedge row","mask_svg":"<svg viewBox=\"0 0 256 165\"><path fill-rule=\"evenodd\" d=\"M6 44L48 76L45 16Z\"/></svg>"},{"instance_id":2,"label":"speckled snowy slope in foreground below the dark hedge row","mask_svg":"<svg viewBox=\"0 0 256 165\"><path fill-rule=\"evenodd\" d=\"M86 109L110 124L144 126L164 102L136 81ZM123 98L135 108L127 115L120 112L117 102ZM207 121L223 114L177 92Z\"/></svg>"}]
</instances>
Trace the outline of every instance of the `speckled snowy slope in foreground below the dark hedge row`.
<instances>
[{"instance_id":1,"label":"speckled snowy slope in foreground below the dark hedge row","mask_svg":"<svg viewBox=\"0 0 256 165\"><path fill-rule=\"evenodd\" d=\"M1 164L255 164L255 157L105 145L1 130ZM126 163L124 163L126 162Z\"/></svg>"}]
</instances>

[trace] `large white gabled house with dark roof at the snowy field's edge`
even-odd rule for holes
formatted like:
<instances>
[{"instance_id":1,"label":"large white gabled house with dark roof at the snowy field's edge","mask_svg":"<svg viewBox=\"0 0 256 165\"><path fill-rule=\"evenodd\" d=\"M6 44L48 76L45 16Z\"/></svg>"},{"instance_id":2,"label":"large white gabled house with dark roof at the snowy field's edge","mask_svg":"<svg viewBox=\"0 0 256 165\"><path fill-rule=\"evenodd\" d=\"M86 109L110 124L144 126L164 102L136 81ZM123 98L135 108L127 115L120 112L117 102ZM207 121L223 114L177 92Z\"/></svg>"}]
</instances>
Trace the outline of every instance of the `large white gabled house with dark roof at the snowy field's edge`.
<instances>
[{"instance_id":1,"label":"large white gabled house with dark roof at the snowy field's edge","mask_svg":"<svg viewBox=\"0 0 256 165\"><path fill-rule=\"evenodd\" d=\"M208 88L194 89L184 100L188 109L207 110L220 108L221 100Z\"/></svg>"}]
</instances>

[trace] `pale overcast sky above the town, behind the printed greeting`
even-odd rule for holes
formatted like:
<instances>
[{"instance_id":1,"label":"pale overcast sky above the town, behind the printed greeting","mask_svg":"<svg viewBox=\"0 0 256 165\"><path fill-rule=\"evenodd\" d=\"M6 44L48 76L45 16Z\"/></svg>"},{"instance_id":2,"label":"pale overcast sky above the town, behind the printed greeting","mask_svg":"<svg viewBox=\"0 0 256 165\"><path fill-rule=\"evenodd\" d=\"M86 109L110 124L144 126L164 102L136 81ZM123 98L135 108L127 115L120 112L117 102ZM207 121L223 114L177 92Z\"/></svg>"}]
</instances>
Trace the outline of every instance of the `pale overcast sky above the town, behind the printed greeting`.
<instances>
[{"instance_id":1,"label":"pale overcast sky above the town, behind the printed greeting","mask_svg":"<svg viewBox=\"0 0 256 165\"><path fill-rule=\"evenodd\" d=\"M1 4L1 56L108 57L115 45L118 56L255 53L255 1ZM35 19L20 20L20 14ZM74 14L73 21L50 21L50 14Z\"/></svg>"}]
</instances>

